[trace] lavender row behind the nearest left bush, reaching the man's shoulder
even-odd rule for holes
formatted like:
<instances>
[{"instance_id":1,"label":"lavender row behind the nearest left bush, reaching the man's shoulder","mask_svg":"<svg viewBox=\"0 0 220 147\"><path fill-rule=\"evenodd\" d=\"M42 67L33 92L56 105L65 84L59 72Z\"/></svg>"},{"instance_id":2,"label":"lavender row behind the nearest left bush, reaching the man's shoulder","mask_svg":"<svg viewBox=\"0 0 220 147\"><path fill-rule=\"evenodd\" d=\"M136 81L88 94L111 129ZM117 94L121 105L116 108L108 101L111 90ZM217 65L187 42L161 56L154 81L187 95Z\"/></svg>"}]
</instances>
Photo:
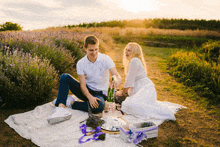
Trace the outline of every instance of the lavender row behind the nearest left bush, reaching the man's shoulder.
<instances>
[{"instance_id":1,"label":"lavender row behind the nearest left bush, reaching the man's shoulder","mask_svg":"<svg viewBox=\"0 0 220 147\"><path fill-rule=\"evenodd\" d=\"M50 38L44 37L44 33L21 32L4 35L3 41L10 47L10 50L22 49L24 53L31 53L33 56L37 55L38 57L46 58L50 60L50 63L60 75L62 73L73 74L75 72L75 56L71 56L72 53L69 50L57 47Z\"/></svg>"}]
</instances>

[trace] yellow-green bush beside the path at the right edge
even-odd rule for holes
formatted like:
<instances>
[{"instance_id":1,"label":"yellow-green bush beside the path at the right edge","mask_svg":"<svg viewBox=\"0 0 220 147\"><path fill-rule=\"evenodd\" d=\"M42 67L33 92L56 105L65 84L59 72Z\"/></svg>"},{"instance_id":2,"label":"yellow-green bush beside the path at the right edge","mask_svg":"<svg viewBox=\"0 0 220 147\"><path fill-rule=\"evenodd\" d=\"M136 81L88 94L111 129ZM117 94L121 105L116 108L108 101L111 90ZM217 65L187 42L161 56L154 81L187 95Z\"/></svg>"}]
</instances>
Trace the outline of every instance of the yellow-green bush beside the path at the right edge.
<instances>
[{"instance_id":1,"label":"yellow-green bush beside the path at the right edge","mask_svg":"<svg viewBox=\"0 0 220 147\"><path fill-rule=\"evenodd\" d=\"M170 72L210 99L219 98L220 66L212 65L194 52L177 52L168 62Z\"/></svg>"}]
</instances>

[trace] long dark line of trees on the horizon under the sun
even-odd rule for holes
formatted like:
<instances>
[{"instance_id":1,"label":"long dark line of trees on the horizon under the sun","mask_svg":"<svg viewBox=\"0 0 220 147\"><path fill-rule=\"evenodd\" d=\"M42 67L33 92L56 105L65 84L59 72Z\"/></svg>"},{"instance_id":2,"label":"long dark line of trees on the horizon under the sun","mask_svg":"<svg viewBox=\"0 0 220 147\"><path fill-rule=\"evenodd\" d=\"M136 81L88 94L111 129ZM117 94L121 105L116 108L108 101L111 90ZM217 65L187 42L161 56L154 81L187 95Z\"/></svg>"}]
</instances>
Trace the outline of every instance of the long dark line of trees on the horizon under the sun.
<instances>
[{"instance_id":1,"label":"long dark line of trees on the horizon under the sun","mask_svg":"<svg viewBox=\"0 0 220 147\"><path fill-rule=\"evenodd\" d=\"M205 19L132 19L132 20L112 20L104 22L80 23L77 25L63 26L65 28L73 27L145 27L159 29L179 29L179 30L213 30L220 31L220 20Z\"/></svg>"}]
</instances>

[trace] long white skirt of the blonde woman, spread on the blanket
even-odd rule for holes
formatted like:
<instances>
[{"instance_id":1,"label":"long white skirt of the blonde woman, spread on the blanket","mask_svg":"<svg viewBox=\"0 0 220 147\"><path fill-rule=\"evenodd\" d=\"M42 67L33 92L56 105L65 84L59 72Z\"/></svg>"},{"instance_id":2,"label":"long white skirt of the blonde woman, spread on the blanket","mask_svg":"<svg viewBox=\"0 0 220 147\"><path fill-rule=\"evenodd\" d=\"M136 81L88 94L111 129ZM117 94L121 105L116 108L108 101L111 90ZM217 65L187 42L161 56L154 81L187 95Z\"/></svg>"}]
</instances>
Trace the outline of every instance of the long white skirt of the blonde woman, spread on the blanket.
<instances>
[{"instance_id":1,"label":"long white skirt of the blonde woman, spread on the blanket","mask_svg":"<svg viewBox=\"0 0 220 147\"><path fill-rule=\"evenodd\" d=\"M138 87L137 87L138 86ZM157 93L148 78L135 83L132 96L122 102L122 111L146 119L176 120L175 113L183 107L179 104L157 101Z\"/></svg>"}]
</instances>

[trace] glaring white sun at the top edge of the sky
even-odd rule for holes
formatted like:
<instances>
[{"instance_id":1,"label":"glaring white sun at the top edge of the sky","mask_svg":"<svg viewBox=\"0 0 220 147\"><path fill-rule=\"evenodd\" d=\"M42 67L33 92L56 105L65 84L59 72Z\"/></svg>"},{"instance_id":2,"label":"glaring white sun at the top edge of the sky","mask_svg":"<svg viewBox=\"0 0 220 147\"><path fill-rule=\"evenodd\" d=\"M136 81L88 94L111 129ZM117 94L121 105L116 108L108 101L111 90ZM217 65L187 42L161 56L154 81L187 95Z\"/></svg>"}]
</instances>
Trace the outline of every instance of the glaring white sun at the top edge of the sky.
<instances>
[{"instance_id":1,"label":"glaring white sun at the top edge of the sky","mask_svg":"<svg viewBox=\"0 0 220 147\"><path fill-rule=\"evenodd\" d=\"M122 8L133 13L155 10L151 0L121 0L121 4Z\"/></svg>"}]
</instances>

